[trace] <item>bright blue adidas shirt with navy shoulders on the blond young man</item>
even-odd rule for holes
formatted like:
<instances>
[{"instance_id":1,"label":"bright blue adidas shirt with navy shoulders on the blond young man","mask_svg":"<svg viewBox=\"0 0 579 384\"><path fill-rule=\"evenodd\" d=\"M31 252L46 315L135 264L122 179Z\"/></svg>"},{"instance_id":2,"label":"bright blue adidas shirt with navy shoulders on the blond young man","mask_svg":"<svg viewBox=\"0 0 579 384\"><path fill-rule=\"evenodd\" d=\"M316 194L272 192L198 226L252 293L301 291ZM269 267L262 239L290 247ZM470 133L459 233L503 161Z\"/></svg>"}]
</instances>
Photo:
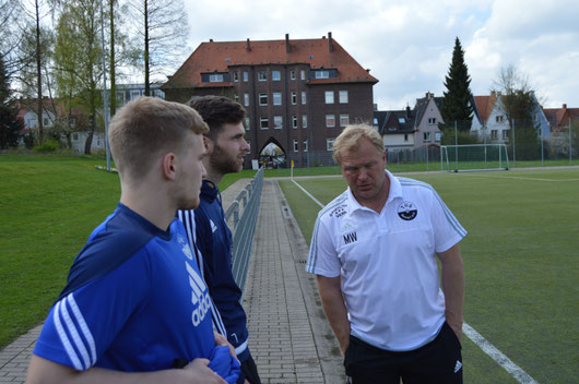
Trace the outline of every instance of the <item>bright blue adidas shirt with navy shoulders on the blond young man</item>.
<instances>
[{"instance_id":1,"label":"bright blue adidas shirt with navy shoulders on the blond young man","mask_svg":"<svg viewBox=\"0 0 579 384\"><path fill-rule=\"evenodd\" d=\"M181 223L163 231L119 203L74 260L34 353L126 372L209 359L209 301Z\"/></svg>"}]
</instances>

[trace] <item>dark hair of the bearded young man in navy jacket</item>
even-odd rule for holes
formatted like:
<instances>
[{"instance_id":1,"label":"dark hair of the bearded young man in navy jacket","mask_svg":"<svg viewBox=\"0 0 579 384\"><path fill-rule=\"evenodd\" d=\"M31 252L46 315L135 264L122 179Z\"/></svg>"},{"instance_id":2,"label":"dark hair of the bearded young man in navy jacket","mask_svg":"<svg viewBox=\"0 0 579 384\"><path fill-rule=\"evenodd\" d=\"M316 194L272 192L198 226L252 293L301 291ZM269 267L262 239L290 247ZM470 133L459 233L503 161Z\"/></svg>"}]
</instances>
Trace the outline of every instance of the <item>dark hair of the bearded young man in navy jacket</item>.
<instances>
[{"instance_id":1,"label":"dark hair of the bearded young man in navy jacket","mask_svg":"<svg viewBox=\"0 0 579 384\"><path fill-rule=\"evenodd\" d=\"M246 117L245 108L225 96L193 96L186 103L201 115L209 125L205 136L215 140L223 124L238 124Z\"/></svg>"}]
</instances>

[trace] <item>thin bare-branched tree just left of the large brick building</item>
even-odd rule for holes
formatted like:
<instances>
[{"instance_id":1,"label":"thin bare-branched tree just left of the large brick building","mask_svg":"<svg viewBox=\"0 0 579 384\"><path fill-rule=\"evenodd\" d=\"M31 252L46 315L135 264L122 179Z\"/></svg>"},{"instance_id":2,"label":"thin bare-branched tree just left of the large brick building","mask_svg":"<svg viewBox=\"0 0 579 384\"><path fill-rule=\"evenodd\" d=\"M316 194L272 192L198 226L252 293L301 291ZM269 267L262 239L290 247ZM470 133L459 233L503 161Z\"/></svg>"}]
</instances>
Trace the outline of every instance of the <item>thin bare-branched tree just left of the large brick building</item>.
<instances>
[{"instance_id":1,"label":"thin bare-branched tree just left of the large brick building","mask_svg":"<svg viewBox=\"0 0 579 384\"><path fill-rule=\"evenodd\" d=\"M151 77L175 64L185 47L188 33L182 0L130 0L142 51L145 96L151 96Z\"/></svg>"}]
</instances>

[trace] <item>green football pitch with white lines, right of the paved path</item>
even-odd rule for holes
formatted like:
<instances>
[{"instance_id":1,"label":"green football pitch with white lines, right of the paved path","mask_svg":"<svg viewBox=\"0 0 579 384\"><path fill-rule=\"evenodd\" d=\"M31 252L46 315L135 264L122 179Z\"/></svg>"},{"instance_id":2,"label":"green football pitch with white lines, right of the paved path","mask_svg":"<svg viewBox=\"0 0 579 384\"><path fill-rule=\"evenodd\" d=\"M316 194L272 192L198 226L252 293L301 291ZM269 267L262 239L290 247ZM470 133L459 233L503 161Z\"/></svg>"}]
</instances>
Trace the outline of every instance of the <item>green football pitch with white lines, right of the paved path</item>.
<instances>
[{"instance_id":1,"label":"green football pitch with white lines, right of the paved path","mask_svg":"<svg viewBox=\"0 0 579 384\"><path fill-rule=\"evenodd\" d=\"M464 383L578 383L579 168L401 176L433 185L469 231L464 321L485 341L463 335ZM309 243L315 200L346 184L294 181L311 196L280 185Z\"/></svg>"}]
</instances>

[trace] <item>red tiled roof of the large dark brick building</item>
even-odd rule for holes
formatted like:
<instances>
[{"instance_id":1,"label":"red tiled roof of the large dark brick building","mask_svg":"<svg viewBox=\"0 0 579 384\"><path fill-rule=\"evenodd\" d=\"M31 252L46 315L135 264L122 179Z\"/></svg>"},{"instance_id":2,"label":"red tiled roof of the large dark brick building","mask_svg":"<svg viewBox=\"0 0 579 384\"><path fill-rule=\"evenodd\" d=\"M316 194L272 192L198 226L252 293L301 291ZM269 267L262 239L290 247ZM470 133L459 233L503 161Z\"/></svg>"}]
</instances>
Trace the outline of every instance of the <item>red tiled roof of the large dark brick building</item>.
<instances>
[{"instance_id":1,"label":"red tiled roof of the large dark brick building","mask_svg":"<svg viewBox=\"0 0 579 384\"><path fill-rule=\"evenodd\" d=\"M214 87L217 84L231 86L232 83L202 83L201 73L227 72L232 65L259 64L295 64L307 63L312 69L338 69L338 77L309 80L309 83L344 83L369 82L378 80L362 68L342 48L335 39L331 39L333 51L329 50L328 38L296 39L290 41L286 52L286 40L249 41L210 41L202 43L175 72L163 87Z\"/></svg>"}]
</instances>

